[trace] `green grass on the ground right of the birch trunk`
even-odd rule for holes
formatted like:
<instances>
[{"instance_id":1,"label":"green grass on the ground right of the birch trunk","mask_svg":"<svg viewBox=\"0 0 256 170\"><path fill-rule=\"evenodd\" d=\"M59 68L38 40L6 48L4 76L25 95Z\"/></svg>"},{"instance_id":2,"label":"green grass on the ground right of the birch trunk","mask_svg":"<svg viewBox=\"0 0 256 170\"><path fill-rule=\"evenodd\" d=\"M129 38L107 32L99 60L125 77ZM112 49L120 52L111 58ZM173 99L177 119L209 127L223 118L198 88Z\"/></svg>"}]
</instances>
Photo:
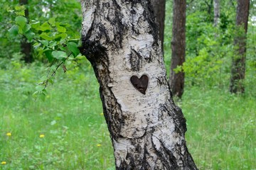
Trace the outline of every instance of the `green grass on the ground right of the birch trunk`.
<instances>
[{"instance_id":1,"label":"green grass on the ground right of the birch trunk","mask_svg":"<svg viewBox=\"0 0 256 170\"><path fill-rule=\"evenodd\" d=\"M186 91L186 139L199 169L256 168L255 102L219 89Z\"/></svg>"}]
</instances>

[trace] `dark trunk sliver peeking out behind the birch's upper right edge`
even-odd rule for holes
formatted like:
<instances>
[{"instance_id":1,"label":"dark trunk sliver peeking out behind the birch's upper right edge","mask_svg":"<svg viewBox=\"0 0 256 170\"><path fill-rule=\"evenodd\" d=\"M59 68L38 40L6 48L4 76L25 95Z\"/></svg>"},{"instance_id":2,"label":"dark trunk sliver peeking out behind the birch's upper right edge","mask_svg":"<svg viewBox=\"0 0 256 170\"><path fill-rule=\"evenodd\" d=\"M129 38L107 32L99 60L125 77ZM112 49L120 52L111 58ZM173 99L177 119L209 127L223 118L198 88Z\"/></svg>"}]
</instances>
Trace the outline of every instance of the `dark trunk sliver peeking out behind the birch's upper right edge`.
<instances>
[{"instance_id":1,"label":"dark trunk sliver peeking out behind the birch's upper right edge","mask_svg":"<svg viewBox=\"0 0 256 170\"><path fill-rule=\"evenodd\" d=\"M164 18L166 0L151 0L156 16L156 23L159 23L159 39L161 40L161 47L164 50Z\"/></svg>"}]
</instances>

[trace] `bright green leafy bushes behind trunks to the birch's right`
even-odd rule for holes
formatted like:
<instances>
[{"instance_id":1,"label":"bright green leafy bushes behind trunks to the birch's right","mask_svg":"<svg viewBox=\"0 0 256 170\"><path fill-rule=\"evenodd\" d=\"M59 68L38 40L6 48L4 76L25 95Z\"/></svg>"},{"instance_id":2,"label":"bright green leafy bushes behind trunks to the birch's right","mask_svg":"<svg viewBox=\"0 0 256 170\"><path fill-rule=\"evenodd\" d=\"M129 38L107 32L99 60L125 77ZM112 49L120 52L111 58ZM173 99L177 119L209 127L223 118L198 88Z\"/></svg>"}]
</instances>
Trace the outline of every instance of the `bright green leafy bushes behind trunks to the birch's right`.
<instances>
[{"instance_id":1,"label":"bright green leafy bushes behind trunks to the birch's right","mask_svg":"<svg viewBox=\"0 0 256 170\"><path fill-rule=\"evenodd\" d=\"M167 2L169 3L169 2ZM189 4L189 3L188 3ZM228 89L230 82L231 59L235 57L234 38L241 33L240 29L235 27L235 4L222 2L221 8L230 8L232 10L221 11L221 23L218 28L213 27L212 13L201 8L208 8L206 4L191 1L187 8L186 16L186 62L183 66L175 69L175 72L185 72L186 86L203 86L204 88L224 88ZM197 6L197 8L193 8ZM170 15L169 11L166 15ZM169 16L167 16L169 17ZM170 18L169 18L170 20ZM170 22L170 21L166 21ZM249 25L250 27L252 25ZM166 31L171 31L166 28ZM248 33L247 42L250 46L247 48L247 69L252 69L255 59L253 51L255 42L253 35ZM166 36L170 36L168 33ZM165 40L171 42L168 37ZM165 42L169 47L165 47L165 54L170 54L170 42ZM166 59L166 66L169 67L169 57ZM252 73L251 73L252 74Z\"/></svg>"}]
</instances>

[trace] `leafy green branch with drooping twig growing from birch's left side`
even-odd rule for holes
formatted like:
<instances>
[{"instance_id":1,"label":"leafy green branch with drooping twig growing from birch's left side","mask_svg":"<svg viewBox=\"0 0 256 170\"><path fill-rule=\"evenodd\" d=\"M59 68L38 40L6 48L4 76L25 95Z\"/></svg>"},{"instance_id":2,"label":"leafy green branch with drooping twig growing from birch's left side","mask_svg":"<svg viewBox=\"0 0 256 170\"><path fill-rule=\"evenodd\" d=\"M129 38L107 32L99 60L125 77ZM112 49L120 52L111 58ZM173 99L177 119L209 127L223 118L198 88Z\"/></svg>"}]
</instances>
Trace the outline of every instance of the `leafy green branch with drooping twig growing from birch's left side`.
<instances>
[{"instance_id":1,"label":"leafy green branch with drooping twig growing from birch's left side","mask_svg":"<svg viewBox=\"0 0 256 170\"><path fill-rule=\"evenodd\" d=\"M25 10L22 6L16 6L15 9L16 14ZM49 82L53 84L57 69L67 60L73 60L80 54L78 50L80 35L68 33L68 25L57 22L56 18L49 18L48 21L40 23L28 22L24 16L16 16L14 26L9 29L9 35L15 37L18 34L26 36L33 42L38 55L45 55L50 62L47 77L41 79L33 94L44 100L47 93L46 86Z\"/></svg>"}]
</instances>

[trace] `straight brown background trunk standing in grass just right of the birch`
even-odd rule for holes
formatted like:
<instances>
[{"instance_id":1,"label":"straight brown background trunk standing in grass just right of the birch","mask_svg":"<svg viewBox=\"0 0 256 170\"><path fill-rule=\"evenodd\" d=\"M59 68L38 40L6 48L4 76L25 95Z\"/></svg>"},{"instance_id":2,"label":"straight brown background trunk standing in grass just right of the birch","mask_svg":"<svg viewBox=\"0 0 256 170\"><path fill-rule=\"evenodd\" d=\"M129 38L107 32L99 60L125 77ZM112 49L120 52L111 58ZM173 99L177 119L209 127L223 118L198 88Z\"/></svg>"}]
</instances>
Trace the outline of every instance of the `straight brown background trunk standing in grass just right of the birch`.
<instances>
[{"instance_id":1,"label":"straight brown background trunk standing in grass just right of the birch","mask_svg":"<svg viewBox=\"0 0 256 170\"><path fill-rule=\"evenodd\" d=\"M181 98L184 89L185 73L175 72L185 62L186 55L186 0L174 0L174 15L171 40L170 86L175 96Z\"/></svg>"}]
</instances>

